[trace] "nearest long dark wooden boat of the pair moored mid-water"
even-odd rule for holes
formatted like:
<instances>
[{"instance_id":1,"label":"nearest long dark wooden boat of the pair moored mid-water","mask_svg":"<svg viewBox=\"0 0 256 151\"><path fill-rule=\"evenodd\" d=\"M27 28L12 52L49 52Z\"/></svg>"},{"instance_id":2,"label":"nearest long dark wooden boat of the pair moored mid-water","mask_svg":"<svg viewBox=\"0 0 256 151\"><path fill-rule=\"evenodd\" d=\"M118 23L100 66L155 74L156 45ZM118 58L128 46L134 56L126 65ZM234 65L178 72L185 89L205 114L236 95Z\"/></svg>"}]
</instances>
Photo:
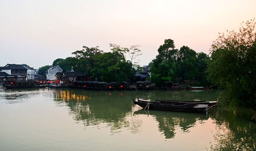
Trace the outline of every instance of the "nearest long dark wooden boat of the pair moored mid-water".
<instances>
[{"instance_id":1,"label":"nearest long dark wooden boat of the pair moored mid-water","mask_svg":"<svg viewBox=\"0 0 256 151\"><path fill-rule=\"evenodd\" d=\"M133 103L139 105L142 108L157 109L157 110L168 110L168 111L184 111L184 112L207 112L210 107L208 104L164 104L161 102L149 102L149 101L134 101Z\"/></svg>"}]
</instances>

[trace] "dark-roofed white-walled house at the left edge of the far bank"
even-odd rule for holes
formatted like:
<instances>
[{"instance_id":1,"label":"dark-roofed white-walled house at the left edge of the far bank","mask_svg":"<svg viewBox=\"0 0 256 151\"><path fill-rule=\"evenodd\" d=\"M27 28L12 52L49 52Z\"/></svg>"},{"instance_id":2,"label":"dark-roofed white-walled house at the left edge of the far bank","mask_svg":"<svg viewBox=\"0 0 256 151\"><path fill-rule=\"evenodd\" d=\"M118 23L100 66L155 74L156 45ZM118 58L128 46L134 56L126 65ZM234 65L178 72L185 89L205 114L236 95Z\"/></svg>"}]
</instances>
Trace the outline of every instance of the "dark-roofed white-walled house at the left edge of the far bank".
<instances>
[{"instance_id":1,"label":"dark-roofed white-walled house at the left edge of the far bank","mask_svg":"<svg viewBox=\"0 0 256 151\"><path fill-rule=\"evenodd\" d=\"M0 67L0 72L5 72L9 76L13 76L13 79L16 81L26 81L27 77L27 68L21 64L6 64L3 67Z\"/></svg>"}]
</instances>

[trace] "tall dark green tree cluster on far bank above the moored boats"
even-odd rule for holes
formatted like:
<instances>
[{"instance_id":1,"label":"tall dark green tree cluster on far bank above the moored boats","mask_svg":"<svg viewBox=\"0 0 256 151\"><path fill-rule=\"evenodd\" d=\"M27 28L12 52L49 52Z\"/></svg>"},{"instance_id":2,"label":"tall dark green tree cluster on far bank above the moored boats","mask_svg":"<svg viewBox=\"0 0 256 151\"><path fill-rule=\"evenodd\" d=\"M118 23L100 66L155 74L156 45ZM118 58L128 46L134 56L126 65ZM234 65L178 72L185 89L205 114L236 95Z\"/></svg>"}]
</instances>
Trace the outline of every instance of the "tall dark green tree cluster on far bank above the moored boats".
<instances>
[{"instance_id":1,"label":"tall dark green tree cluster on far bank above the moored boats","mask_svg":"<svg viewBox=\"0 0 256 151\"><path fill-rule=\"evenodd\" d=\"M181 82L185 79L200 80L201 85L208 85L206 78L207 61L209 56L203 52L197 53L188 46L175 49L174 41L165 40L158 48L158 55L150 66L152 81L158 87L163 81Z\"/></svg>"}]
</instances>

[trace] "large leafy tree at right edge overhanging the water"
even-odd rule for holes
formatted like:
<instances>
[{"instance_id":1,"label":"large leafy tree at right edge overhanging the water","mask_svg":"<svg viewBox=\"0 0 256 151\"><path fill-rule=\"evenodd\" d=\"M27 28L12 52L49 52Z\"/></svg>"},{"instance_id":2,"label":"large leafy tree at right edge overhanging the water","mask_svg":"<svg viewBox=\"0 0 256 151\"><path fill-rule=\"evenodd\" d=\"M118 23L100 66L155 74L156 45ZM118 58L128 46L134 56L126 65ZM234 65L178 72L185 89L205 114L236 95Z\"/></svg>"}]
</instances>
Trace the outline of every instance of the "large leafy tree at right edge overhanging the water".
<instances>
[{"instance_id":1,"label":"large leafy tree at right edge overhanging the water","mask_svg":"<svg viewBox=\"0 0 256 151\"><path fill-rule=\"evenodd\" d=\"M256 110L255 21L242 22L239 32L227 31L211 46L209 79L219 88L226 105L248 106Z\"/></svg>"}]
</instances>

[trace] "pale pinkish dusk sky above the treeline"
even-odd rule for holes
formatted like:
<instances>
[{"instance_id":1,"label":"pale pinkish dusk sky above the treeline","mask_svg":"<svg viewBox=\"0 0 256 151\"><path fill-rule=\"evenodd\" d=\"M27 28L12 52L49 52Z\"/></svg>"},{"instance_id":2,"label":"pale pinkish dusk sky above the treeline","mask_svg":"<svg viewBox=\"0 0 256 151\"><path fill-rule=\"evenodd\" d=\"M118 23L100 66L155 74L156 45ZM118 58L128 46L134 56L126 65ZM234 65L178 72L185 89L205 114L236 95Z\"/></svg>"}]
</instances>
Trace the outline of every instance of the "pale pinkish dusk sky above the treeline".
<instances>
[{"instance_id":1,"label":"pale pinkish dusk sky above the treeline","mask_svg":"<svg viewBox=\"0 0 256 151\"><path fill-rule=\"evenodd\" d=\"M256 0L0 0L0 66L35 69L83 46L141 45L140 65L165 39L209 54L218 33L256 18ZM129 58L127 57L127 60Z\"/></svg>"}]
</instances>

